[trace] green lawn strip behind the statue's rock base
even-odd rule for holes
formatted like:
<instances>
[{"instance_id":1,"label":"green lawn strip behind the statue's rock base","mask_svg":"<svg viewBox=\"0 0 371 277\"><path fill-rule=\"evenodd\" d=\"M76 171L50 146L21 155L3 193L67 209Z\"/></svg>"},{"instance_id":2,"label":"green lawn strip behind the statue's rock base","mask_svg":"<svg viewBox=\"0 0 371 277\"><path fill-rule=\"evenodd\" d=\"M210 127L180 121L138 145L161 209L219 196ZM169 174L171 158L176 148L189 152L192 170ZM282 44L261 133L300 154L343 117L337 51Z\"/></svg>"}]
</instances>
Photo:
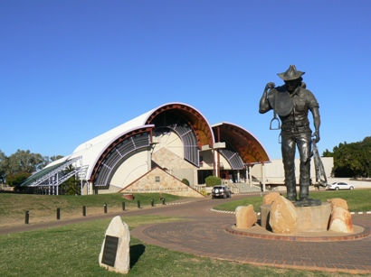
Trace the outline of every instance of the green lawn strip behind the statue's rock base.
<instances>
[{"instance_id":1,"label":"green lawn strip behind the statue's rock base","mask_svg":"<svg viewBox=\"0 0 371 277\"><path fill-rule=\"evenodd\" d=\"M320 199L323 202L326 202L328 199L345 199L347 200L347 206L351 212L371 211L371 189L310 192L309 197L311 199ZM234 211L238 206L253 205L254 210L259 212L262 199L263 197L240 199L215 206L214 209Z\"/></svg>"}]
</instances>

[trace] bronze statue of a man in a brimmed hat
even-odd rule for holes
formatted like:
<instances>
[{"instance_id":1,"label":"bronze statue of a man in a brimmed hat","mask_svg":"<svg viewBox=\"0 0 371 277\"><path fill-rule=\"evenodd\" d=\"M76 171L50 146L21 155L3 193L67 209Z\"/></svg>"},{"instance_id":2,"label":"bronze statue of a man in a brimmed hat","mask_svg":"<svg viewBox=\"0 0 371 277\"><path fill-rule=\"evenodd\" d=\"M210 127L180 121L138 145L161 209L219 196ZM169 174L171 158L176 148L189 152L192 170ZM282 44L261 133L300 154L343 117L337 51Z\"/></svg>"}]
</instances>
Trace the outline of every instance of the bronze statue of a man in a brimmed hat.
<instances>
[{"instance_id":1,"label":"bronze statue of a man in a brimmed hat","mask_svg":"<svg viewBox=\"0 0 371 277\"><path fill-rule=\"evenodd\" d=\"M317 206L320 201L309 199L310 185L310 156L311 141L319 142L319 103L316 97L306 89L302 82L302 75L294 65L285 72L278 74L283 79L284 85L274 87L268 83L262 94L259 113L264 114L271 109L274 115L281 119L281 152L285 171L285 185L287 199L294 202L295 206ZM313 115L315 132L309 127L308 114ZM295 151L300 152L300 199L297 201L295 178Z\"/></svg>"}]
</instances>

